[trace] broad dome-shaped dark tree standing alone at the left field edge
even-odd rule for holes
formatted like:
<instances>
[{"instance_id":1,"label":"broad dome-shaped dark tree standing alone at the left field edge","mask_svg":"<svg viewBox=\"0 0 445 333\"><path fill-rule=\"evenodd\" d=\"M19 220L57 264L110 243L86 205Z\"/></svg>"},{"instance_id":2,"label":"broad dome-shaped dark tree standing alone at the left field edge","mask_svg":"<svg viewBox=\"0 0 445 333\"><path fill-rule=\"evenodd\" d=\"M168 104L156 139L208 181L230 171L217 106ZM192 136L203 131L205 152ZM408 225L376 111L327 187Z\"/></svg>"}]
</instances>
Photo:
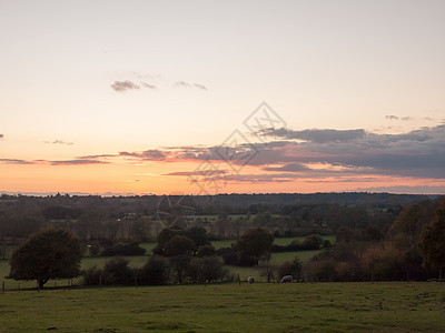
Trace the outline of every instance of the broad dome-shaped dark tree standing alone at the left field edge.
<instances>
[{"instance_id":1,"label":"broad dome-shaped dark tree standing alone at the left field edge","mask_svg":"<svg viewBox=\"0 0 445 333\"><path fill-rule=\"evenodd\" d=\"M9 278L37 280L39 287L50 279L72 279L80 275L82 249L80 241L61 229L46 229L31 234L10 260Z\"/></svg>"}]
</instances>

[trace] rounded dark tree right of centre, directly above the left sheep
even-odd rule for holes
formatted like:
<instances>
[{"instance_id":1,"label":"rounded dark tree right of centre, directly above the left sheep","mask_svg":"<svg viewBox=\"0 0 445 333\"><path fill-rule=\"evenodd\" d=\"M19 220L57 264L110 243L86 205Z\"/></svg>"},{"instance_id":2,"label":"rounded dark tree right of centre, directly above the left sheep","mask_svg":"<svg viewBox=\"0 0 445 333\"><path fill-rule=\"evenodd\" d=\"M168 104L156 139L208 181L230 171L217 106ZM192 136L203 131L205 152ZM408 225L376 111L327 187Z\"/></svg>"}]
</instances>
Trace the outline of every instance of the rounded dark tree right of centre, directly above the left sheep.
<instances>
[{"instance_id":1,"label":"rounded dark tree right of centre, directly above the left sheep","mask_svg":"<svg viewBox=\"0 0 445 333\"><path fill-rule=\"evenodd\" d=\"M243 264L258 264L261 256L270 255L274 236L264 228L247 230L238 240L237 249Z\"/></svg>"}]
</instances>

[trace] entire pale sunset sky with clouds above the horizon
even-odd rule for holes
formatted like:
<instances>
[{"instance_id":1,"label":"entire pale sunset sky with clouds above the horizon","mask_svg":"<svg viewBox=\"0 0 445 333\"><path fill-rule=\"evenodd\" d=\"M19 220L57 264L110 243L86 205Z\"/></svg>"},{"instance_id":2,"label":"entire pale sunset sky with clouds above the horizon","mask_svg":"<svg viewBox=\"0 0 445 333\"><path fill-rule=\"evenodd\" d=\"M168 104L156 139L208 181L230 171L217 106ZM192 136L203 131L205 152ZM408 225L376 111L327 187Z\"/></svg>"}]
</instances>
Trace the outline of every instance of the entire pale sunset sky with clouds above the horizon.
<instances>
[{"instance_id":1,"label":"entire pale sunset sky with clouds above the horizon","mask_svg":"<svg viewBox=\"0 0 445 333\"><path fill-rule=\"evenodd\" d=\"M444 14L0 0L0 193L445 193Z\"/></svg>"}]
</instances>

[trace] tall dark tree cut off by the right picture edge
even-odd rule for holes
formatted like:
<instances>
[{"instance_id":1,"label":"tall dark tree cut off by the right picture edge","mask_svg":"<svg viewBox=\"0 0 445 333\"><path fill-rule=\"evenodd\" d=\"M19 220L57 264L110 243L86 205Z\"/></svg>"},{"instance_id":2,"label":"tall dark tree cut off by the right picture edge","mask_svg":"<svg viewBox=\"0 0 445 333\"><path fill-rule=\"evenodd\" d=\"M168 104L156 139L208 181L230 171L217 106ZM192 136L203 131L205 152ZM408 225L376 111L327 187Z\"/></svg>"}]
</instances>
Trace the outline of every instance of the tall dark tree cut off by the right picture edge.
<instances>
[{"instance_id":1,"label":"tall dark tree cut off by the right picture edge","mask_svg":"<svg viewBox=\"0 0 445 333\"><path fill-rule=\"evenodd\" d=\"M419 248L424 264L439 270L445 268L445 199L442 199L434 220L424 229Z\"/></svg>"}]
</instances>

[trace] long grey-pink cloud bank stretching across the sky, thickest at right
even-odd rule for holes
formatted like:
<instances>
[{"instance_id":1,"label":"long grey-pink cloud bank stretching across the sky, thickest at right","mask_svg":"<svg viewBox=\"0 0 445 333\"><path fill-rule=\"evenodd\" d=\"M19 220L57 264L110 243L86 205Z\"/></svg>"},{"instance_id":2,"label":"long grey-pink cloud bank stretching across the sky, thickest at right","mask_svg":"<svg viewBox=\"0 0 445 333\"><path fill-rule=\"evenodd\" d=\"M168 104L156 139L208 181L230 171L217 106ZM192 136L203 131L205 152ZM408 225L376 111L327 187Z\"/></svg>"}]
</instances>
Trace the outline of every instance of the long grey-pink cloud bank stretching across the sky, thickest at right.
<instances>
[{"instance_id":1,"label":"long grey-pink cloud bank stretching across the sky, thickest at right","mask_svg":"<svg viewBox=\"0 0 445 333\"><path fill-rule=\"evenodd\" d=\"M197 181L287 182L297 178L310 178L314 181L336 178L338 182L352 182L382 175L445 179L445 124L402 134L377 134L363 129L269 129L261 133L264 137L273 135L277 141L237 142L235 147L168 147L80 157L72 161L40 162L52 165L100 164L116 158L129 161L195 161L201 163L200 170L204 171L197 169L166 175L194 176ZM7 159L0 162L38 163ZM240 170L243 165L256 167L266 174L263 178L231 174L236 170L234 167Z\"/></svg>"}]
</instances>

